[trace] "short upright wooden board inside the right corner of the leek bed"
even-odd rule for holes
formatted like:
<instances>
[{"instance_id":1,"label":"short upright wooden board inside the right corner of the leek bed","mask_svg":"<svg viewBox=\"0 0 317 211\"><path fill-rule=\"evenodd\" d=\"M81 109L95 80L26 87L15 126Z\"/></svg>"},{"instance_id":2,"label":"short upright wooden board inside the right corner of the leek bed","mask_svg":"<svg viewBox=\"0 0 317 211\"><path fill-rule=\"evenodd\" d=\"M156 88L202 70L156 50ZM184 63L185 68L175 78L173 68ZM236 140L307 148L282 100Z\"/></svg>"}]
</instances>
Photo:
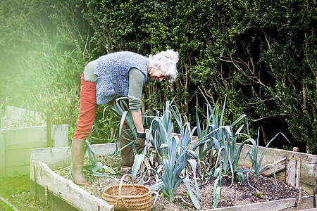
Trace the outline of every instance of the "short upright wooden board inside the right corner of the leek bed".
<instances>
[{"instance_id":1,"label":"short upright wooden board inside the right corner of the leek bed","mask_svg":"<svg viewBox=\"0 0 317 211\"><path fill-rule=\"evenodd\" d=\"M286 184L299 188L301 160L300 158L286 158Z\"/></svg>"}]
</instances>

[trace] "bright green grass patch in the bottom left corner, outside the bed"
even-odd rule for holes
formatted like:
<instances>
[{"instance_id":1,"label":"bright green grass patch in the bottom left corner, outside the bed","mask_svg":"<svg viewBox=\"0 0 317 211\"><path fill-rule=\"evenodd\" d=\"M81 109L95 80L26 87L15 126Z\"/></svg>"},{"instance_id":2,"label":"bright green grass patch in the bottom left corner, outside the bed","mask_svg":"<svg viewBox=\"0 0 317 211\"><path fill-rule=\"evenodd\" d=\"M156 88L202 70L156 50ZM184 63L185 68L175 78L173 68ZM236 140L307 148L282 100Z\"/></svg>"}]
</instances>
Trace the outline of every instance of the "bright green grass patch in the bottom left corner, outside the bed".
<instances>
[{"instance_id":1,"label":"bright green grass patch in the bottom left corner, outside the bed","mask_svg":"<svg viewBox=\"0 0 317 211\"><path fill-rule=\"evenodd\" d=\"M51 211L30 193L29 175L0 178L0 196L11 203L17 210ZM14 210L0 199L0 210Z\"/></svg>"}]
</instances>

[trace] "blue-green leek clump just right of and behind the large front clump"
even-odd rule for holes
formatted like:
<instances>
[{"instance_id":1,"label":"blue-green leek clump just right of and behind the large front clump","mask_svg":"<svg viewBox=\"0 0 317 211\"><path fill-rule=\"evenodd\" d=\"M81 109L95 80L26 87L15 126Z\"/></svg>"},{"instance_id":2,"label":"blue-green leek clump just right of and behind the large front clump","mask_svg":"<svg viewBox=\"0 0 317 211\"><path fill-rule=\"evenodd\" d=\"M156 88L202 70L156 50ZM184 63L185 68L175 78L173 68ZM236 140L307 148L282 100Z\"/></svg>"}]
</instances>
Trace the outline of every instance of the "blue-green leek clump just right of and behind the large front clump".
<instances>
[{"instance_id":1,"label":"blue-green leek clump just right of and behind the large front clump","mask_svg":"<svg viewBox=\"0 0 317 211\"><path fill-rule=\"evenodd\" d=\"M229 126L225 126L223 124L223 117L225 113L226 99L223 103L222 112L220 113L220 106L218 105L218 103L216 103L216 106L214 106L214 108L211 108L211 105L207 100L206 96L204 96L204 98L206 100L207 105L206 122L203 122L202 127L200 126L198 108L196 107L197 134L199 139L195 146L192 148L192 150L195 151L197 148L199 148L200 160L206 155L206 153L210 152L210 162L212 162L214 156L216 156L215 154L213 154L213 150L216 149L216 151L218 151L216 166L211 169L211 172L209 172L209 177L206 178L206 181L211 179L211 177L218 177L218 174L231 173L232 175L234 175L234 177L240 180L240 183L243 183L244 176L242 172L237 171L237 163L240 159L242 147L245 143L247 143L247 141L244 141L239 149L237 149L235 143L237 142L238 136L248 135L241 133L243 125L240 126L239 129L237 129L237 132L235 134L233 133L233 127L235 127L235 125L238 122L240 122L244 117L246 117L246 115L241 115L237 118L237 120L232 122L232 124L230 124ZM219 117L220 120L218 121ZM223 160L220 160L221 155L223 155ZM232 177L232 183L234 177Z\"/></svg>"}]
</instances>

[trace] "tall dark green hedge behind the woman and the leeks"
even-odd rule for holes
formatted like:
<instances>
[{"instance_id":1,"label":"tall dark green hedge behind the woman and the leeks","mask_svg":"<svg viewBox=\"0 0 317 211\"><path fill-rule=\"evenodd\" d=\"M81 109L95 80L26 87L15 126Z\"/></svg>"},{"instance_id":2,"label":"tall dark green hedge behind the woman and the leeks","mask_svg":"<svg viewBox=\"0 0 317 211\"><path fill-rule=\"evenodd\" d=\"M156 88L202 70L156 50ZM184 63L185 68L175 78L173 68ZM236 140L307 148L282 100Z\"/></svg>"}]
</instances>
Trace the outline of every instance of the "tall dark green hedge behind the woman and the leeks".
<instances>
[{"instance_id":1,"label":"tall dark green hedge behind the woman and the leeks","mask_svg":"<svg viewBox=\"0 0 317 211\"><path fill-rule=\"evenodd\" d=\"M149 84L147 105L172 99L189 117L201 87L228 98L228 120L247 114L264 142L317 153L316 1L83 1L97 52L180 52L173 87ZM164 88L164 89L161 89ZM201 100L201 108L204 101Z\"/></svg>"}]
</instances>

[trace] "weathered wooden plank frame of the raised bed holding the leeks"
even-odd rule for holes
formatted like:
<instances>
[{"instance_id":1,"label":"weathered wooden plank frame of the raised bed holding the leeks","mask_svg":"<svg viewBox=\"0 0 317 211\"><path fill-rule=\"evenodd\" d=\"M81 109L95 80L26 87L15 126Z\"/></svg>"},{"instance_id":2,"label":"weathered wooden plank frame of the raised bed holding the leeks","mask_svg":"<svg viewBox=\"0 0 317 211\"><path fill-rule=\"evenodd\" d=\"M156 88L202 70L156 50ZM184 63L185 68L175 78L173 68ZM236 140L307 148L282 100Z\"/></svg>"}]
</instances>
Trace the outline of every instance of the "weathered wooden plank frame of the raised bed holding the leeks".
<instances>
[{"instance_id":1,"label":"weathered wooden plank frame of the raised bed holding the leeks","mask_svg":"<svg viewBox=\"0 0 317 211\"><path fill-rule=\"evenodd\" d=\"M97 152L97 155L100 156L107 155L114 151L113 144L101 144L93 147ZM101 198L93 196L89 191L85 191L84 188L80 188L73 184L73 181L64 179L59 174L52 171L65 165L66 158L70 159L69 153L66 157L67 151L68 148L32 150L31 159L35 160L31 162L30 169L32 193L45 203L44 196L46 187L48 201L51 202L54 200L54 203L50 203L50 206L54 208L55 205L61 205L54 210L63 210L62 207L67 207L66 210L113 210L112 205L108 205L104 200L101 200ZM302 173L305 171L305 174L301 174L299 177L299 184L304 188L304 191L308 193L311 193L313 188L316 188L316 155L280 151L272 148L268 148L266 153L267 155L264 158L269 158L268 160L263 160L263 165L265 165L266 162L271 162L271 153L272 155L275 155L275 160L278 160L278 155L286 156L285 158L301 158L301 161L304 160L304 162L301 162L299 170L301 170ZM309 170L304 170L307 166L309 167ZM282 171L285 171L286 176L287 170ZM280 178L283 177L282 171L280 172ZM212 196L210 197L212 198ZM57 203L57 201L59 202ZM166 201L168 201L168 199L166 199ZM297 208L299 210L313 208L313 196L303 196L300 200L299 198L290 198L265 203L254 203L251 205L224 207L214 210L297 210Z\"/></svg>"}]
</instances>

